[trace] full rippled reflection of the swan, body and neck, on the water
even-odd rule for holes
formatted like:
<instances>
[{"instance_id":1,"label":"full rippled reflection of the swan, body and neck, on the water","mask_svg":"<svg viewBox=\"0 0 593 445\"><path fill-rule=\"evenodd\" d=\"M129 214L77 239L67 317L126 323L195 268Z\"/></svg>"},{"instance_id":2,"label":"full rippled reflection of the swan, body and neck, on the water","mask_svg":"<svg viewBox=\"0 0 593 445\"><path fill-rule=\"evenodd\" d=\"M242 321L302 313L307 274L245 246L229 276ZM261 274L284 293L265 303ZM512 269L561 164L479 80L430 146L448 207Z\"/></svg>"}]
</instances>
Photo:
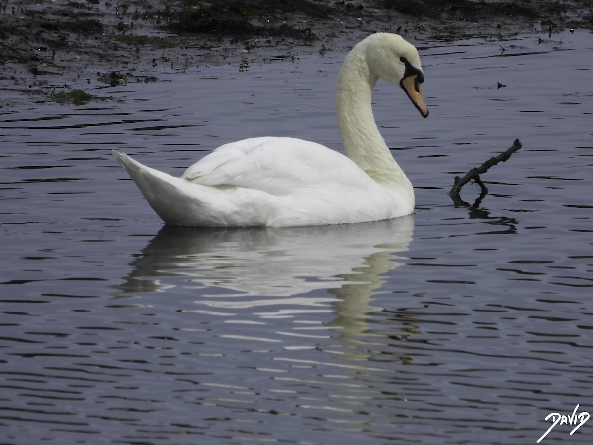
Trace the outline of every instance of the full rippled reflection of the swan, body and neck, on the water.
<instances>
[{"instance_id":1,"label":"full rippled reflection of the swan, body and neck, on the water","mask_svg":"<svg viewBox=\"0 0 593 445\"><path fill-rule=\"evenodd\" d=\"M219 338L292 336L311 348L333 337L343 342L342 360L366 361L373 355L364 346L368 317L382 310L371 306L372 295L401 265L413 229L412 215L323 227L165 226L133 260L116 297L175 295L177 310L193 320L234 323ZM292 322L263 329L278 319ZM408 325L391 322L391 335L409 335Z\"/></svg>"}]
</instances>

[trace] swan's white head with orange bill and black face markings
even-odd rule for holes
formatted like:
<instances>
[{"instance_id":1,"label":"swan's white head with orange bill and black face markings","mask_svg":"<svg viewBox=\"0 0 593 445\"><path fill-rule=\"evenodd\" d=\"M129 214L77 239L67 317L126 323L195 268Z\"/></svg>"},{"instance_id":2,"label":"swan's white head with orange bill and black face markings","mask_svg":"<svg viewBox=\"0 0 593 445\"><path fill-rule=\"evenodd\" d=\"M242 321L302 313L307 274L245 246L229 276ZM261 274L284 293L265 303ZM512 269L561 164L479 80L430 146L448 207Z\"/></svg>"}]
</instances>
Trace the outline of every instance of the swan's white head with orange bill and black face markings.
<instances>
[{"instance_id":1,"label":"swan's white head with orange bill and black face markings","mask_svg":"<svg viewBox=\"0 0 593 445\"><path fill-rule=\"evenodd\" d=\"M372 34L365 40L366 61L371 74L400 85L420 115L428 117L428 107L420 89L424 73L420 56L412 43L391 33Z\"/></svg>"}]
</instances>

